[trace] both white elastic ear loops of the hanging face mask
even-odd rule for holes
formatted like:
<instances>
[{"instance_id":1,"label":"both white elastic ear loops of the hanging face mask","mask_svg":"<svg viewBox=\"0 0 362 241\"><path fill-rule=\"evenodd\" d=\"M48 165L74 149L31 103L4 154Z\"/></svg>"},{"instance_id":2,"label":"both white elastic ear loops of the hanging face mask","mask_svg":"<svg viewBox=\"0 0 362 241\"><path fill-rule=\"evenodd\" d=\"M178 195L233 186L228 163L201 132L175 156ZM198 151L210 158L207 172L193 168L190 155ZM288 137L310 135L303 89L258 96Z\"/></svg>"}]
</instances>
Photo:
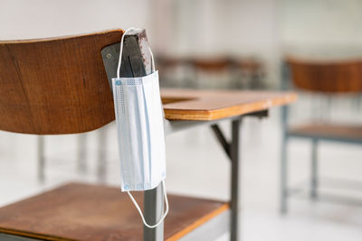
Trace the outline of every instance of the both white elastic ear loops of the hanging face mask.
<instances>
[{"instance_id":1,"label":"both white elastic ear loops of the hanging face mask","mask_svg":"<svg viewBox=\"0 0 362 241\"><path fill-rule=\"evenodd\" d=\"M123 42L124 42L124 36L126 35L127 32L129 32L130 30L135 30L135 28L129 28L126 32L123 33L122 35L122 38L120 40L120 48L119 48L119 65L117 67L117 78L119 79L119 70L120 70L120 65L121 65L121 62L122 62L122 51L123 51ZM151 54L151 60L152 60L152 72L154 72L156 69L155 69L155 60L153 58L153 53L151 51L151 49L148 47L148 50ZM157 222L157 224L155 225L149 225L147 222L146 222L146 219L145 217L143 216L143 213L142 213L142 210L139 208L138 206L138 203L136 201L136 199L133 198L132 194L127 191L127 193L129 194L129 198L132 200L133 204L135 205L136 209L138 209L138 213L140 215L140 217L142 218L142 221L143 221L143 224L146 226L146 227L149 227L149 228L154 228L154 227L157 227L158 225L160 225L164 219L166 218L167 216L167 213L168 213L168 199L167 199L167 192L166 192L166 186L165 186L165 181L162 181L162 190L164 192L164 199L165 199L165 204L166 204L166 210L165 210L165 213L164 215L162 216L162 218Z\"/></svg>"}]
</instances>

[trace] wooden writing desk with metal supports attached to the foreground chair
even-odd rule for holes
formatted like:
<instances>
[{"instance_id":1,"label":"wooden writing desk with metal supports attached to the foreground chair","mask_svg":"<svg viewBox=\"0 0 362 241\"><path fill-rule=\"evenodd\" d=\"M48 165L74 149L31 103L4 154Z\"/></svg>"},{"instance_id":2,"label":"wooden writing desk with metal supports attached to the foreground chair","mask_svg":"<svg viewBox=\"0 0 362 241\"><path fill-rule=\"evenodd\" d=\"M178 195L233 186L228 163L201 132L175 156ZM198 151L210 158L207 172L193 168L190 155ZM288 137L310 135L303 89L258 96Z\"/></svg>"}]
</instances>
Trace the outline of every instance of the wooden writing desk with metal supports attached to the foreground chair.
<instances>
[{"instance_id":1,"label":"wooden writing desk with metal supports attached to the foreground chair","mask_svg":"<svg viewBox=\"0 0 362 241\"><path fill-rule=\"evenodd\" d=\"M296 100L294 93L281 93L269 91L231 91L231 90L192 90L192 89L162 89L161 97L165 111L165 132L171 134L195 125L211 125L216 138L224 148L232 162L231 170L231 240L239 240L238 229L240 225L240 162L241 138L240 130L243 116L267 116L271 107L289 104ZM232 123L232 140L227 141L218 122L229 119ZM145 211L148 218L156 221L162 208L162 190L145 192ZM157 209L155 209L157 207ZM161 229L162 227L160 227ZM147 230L147 240L158 240L157 232L162 230ZM160 238L159 240L161 240Z\"/></svg>"}]
</instances>

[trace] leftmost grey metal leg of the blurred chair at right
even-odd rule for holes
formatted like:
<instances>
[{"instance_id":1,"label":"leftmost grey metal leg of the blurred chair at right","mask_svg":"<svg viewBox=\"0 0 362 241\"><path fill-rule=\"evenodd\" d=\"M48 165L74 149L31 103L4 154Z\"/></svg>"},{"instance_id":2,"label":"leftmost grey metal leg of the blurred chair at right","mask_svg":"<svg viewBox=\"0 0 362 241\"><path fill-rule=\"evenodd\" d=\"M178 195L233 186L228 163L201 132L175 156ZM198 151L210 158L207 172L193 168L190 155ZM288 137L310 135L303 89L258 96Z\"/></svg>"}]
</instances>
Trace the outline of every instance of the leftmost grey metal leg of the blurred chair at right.
<instances>
[{"instance_id":1,"label":"leftmost grey metal leg of the blurred chair at right","mask_svg":"<svg viewBox=\"0 0 362 241\"><path fill-rule=\"evenodd\" d=\"M280 212L286 214L288 211L288 159L287 138L283 134L281 141L281 203Z\"/></svg>"}]
</instances>

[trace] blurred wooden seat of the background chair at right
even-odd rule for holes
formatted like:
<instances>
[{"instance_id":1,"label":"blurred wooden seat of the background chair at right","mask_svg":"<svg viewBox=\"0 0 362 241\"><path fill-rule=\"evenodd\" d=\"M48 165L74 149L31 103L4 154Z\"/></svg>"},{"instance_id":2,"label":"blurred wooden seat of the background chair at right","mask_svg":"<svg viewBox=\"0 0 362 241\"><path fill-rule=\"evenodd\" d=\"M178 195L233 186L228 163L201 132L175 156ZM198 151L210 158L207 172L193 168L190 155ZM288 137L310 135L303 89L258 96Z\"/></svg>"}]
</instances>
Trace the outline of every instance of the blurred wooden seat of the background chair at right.
<instances>
[{"instance_id":1,"label":"blurred wooden seat of the background chair at right","mask_svg":"<svg viewBox=\"0 0 362 241\"><path fill-rule=\"evenodd\" d=\"M362 143L362 125L307 124L292 126L288 134L341 142Z\"/></svg>"}]
</instances>

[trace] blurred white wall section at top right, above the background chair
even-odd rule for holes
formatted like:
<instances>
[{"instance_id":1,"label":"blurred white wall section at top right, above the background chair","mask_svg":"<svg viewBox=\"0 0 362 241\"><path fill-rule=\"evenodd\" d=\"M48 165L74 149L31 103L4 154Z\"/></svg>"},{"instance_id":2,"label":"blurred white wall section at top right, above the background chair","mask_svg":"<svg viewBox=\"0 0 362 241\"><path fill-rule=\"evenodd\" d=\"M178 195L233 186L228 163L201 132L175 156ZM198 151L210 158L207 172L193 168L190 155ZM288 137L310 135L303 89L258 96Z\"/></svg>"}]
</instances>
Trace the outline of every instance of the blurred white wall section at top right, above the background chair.
<instances>
[{"instance_id":1,"label":"blurred white wall section at top right, above the background chair","mask_svg":"<svg viewBox=\"0 0 362 241\"><path fill-rule=\"evenodd\" d=\"M362 55L362 1L283 0L281 42L289 51Z\"/></svg>"}]
</instances>

